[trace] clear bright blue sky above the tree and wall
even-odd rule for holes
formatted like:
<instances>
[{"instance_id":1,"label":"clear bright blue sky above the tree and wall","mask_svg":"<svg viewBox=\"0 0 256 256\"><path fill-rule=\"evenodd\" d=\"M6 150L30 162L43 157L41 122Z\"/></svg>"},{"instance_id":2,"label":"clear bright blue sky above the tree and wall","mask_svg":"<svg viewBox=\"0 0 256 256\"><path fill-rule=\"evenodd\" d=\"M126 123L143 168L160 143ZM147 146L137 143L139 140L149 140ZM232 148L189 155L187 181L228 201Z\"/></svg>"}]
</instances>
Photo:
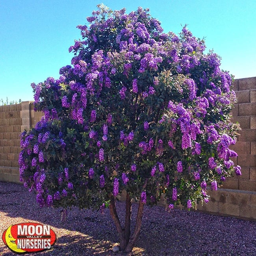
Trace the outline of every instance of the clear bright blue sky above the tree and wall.
<instances>
[{"instance_id":1,"label":"clear bright blue sky above the tree and wall","mask_svg":"<svg viewBox=\"0 0 256 256\"><path fill-rule=\"evenodd\" d=\"M32 82L59 77L70 65L68 52L96 5L113 10L149 8L164 32L182 26L206 41L206 53L221 56L221 68L235 78L256 76L255 0L1 0L0 99L33 100Z\"/></svg>"}]
</instances>

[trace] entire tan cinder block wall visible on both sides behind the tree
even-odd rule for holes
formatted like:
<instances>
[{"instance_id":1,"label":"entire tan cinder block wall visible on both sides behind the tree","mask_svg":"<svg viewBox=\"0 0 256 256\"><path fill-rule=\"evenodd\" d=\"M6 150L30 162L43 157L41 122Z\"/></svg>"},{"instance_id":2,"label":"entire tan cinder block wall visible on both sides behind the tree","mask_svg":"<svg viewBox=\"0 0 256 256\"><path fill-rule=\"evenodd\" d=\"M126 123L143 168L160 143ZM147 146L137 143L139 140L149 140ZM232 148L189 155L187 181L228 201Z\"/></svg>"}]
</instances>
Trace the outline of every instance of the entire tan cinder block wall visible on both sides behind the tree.
<instances>
[{"instance_id":1,"label":"entire tan cinder block wall visible on both sides behind the tree","mask_svg":"<svg viewBox=\"0 0 256 256\"><path fill-rule=\"evenodd\" d=\"M221 189L208 191L210 202L199 204L198 210L256 221L256 77L237 79L233 85L237 103L232 121L238 121L242 130L231 148L238 154L234 162L241 166L242 176L228 178ZM0 106L0 181L19 182L19 135L41 116L29 101Z\"/></svg>"}]
</instances>

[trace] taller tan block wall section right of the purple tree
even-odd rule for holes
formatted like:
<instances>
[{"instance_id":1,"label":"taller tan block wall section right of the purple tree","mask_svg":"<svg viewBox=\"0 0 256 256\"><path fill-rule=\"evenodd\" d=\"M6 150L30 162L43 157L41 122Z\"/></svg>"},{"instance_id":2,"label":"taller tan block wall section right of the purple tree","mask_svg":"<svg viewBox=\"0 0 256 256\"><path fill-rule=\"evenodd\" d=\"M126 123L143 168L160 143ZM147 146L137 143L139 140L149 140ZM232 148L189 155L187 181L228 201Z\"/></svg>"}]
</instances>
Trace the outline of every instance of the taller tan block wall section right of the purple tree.
<instances>
[{"instance_id":1,"label":"taller tan block wall section right of the purple tree","mask_svg":"<svg viewBox=\"0 0 256 256\"><path fill-rule=\"evenodd\" d=\"M221 189L210 191L208 204L198 210L256 221L256 77L236 79L233 83L237 103L232 110L232 122L239 122L233 159L241 166L242 176L228 178Z\"/></svg>"}]
</instances>

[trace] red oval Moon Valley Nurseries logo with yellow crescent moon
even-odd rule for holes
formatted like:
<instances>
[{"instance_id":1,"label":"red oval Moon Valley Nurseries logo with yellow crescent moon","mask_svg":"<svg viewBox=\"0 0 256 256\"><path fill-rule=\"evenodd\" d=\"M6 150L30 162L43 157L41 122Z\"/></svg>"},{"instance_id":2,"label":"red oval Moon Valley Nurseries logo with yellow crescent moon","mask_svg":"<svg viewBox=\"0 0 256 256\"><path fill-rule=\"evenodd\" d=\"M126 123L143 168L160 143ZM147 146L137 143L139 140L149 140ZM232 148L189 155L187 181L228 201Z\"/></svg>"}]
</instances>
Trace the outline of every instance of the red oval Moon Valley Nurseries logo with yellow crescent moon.
<instances>
[{"instance_id":1,"label":"red oval Moon Valley Nurseries logo with yellow crescent moon","mask_svg":"<svg viewBox=\"0 0 256 256\"><path fill-rule=\"evenodd\" d=\"M2 235L4 244L13 252L41 252L56 242L56 234L49 225L19 223L9 226Z\"/></svg>"}]
</instances>

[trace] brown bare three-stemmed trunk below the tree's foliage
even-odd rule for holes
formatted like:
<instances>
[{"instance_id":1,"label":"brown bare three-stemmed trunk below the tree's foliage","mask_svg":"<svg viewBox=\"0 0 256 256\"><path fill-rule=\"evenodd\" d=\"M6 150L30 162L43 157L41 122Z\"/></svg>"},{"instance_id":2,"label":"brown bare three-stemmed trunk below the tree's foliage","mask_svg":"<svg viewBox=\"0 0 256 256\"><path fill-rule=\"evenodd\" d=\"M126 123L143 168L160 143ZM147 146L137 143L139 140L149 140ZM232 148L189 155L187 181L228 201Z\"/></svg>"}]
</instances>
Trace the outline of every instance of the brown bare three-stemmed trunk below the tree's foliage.
<instances>
[{"instance_id":1,"label":"brown bare three-stemmed trunk below the tree's foliage","mask_svg":"<svg viewBox=\"0 0 256 256\"><path fill-rule=\"evenodd\" d=\"M115 208L115 200L111 198L109 210L111 217L115 222L115 226L117 228L117 232L120 236L120 250L125 253L131 252L134 248L135 242L139 236L139 232L141 230L141 221L142 221L142 213L143 213L144 203L139 200L139 208L137 212L136 225L134 229L134 233L131 236L131 212L132 212L132 202L129 193L126 193L126 212L125 212L125 224L124 228L122 228L117 210Z\"/></svg>"}]
</instances>

